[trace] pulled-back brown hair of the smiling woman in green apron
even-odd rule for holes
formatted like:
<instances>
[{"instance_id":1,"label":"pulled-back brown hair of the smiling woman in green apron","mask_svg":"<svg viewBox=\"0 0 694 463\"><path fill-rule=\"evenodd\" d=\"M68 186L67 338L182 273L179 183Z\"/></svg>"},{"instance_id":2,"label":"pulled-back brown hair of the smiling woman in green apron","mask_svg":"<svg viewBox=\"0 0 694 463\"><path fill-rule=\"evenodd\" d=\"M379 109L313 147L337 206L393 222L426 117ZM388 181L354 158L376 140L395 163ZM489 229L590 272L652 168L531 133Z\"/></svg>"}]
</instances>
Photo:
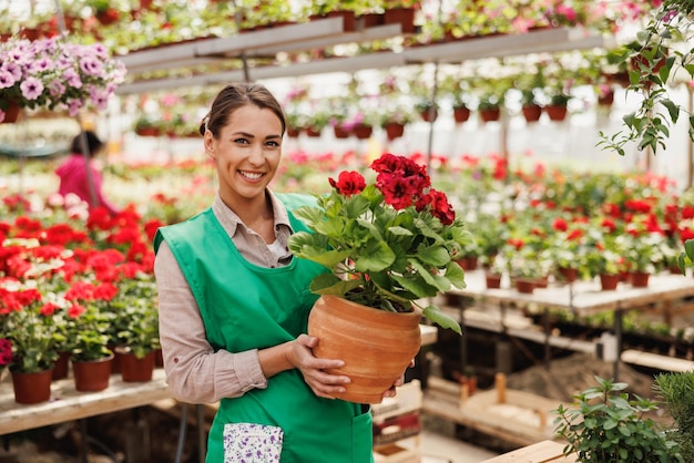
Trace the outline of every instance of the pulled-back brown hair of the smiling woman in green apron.
<instances>
[{"instance_id":1,"label":"pulled-back brown hair of the smiling woman in green apron","mask_svg":"<svg viewBox=\"0 0 694 463\"><path fill-rule=\"evenodd\" d=\"M205 130L208 130L216 138L234 111L246 104L254 104L275 113L282 122L282 134L284 135L287 124L282 106L264 85L251 82L232 83L225 86L212 102L212 109L200 125L200 133L204 135Z\"/></svg>"}]
</instances>

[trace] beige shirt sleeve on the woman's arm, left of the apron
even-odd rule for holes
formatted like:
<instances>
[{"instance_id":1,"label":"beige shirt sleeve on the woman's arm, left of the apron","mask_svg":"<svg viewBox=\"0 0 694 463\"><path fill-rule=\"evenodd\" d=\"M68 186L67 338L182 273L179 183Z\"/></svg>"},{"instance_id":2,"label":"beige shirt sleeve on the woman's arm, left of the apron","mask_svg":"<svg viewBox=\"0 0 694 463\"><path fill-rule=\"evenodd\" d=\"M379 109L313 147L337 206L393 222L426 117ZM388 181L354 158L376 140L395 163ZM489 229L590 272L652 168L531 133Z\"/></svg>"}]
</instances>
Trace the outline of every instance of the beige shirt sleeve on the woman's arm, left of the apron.
<instances>
[{"instance_id":1,"label":"beige shirt sleeve on the woman's arm, left of the apron","mask_svg":"<svg viewBox=\"0 0 694 463\"><path fill-rule=\"evenodd\" d=\"M166 243L154 261L166 382L176 400L211 403L267 387L257 350L214 349L191 288Z\"/></svg>"}]
</instances>

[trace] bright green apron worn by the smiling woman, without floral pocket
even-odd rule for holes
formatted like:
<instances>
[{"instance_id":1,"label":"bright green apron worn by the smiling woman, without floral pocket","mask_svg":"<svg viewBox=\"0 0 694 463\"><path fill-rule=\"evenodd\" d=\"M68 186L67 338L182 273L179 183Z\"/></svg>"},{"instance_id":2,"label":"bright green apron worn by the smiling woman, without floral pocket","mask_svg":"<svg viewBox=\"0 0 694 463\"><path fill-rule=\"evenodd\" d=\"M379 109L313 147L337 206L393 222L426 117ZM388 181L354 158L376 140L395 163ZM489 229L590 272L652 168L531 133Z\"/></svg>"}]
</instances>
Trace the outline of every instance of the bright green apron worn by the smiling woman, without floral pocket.
<instances>
[{"instance_id":1,"label":"bright green apron worn by the smiling woman, without floral pocket","mask_svg":"<svg viewBox=\"0 0 694 463\"><path fill-rule=\"evenodd\" d=\"M307 230L290 213L289 219L295 232ZM308 284L326 271L324 267L297 258L278 268L248 263L212 208L160 228L155 249L163 239L191 286L215 351L264 349L306 332L308 312L317 299ZM316 397L297 369L274 375L267 389L222 399L210 431L207 463L225 462L226 423L280 428L283 463L374 461L370 412L363 412L359 404Z\"/></svg>"}]
</instances>

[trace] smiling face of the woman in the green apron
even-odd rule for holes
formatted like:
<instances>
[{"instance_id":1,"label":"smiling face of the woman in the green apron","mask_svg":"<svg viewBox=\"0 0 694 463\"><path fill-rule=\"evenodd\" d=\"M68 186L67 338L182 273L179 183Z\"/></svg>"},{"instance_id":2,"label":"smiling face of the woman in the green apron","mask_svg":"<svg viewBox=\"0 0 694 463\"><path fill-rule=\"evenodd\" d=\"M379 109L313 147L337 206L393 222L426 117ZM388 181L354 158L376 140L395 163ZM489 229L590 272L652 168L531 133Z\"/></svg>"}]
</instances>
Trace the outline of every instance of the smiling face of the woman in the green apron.
<instances>
[{"instance_id":1,"label":"smiling face of the woman in the green apron","mask_svg":"<svg viewBox=\"0 0 694 463\"><path fill-rule=\"evenodd\" d=\"M264 199L282 157L279 117L246 104L234 111L218 135L205 133L205 151L215 160L222 199L229 206Z\"/></svg>"}]
</instances>

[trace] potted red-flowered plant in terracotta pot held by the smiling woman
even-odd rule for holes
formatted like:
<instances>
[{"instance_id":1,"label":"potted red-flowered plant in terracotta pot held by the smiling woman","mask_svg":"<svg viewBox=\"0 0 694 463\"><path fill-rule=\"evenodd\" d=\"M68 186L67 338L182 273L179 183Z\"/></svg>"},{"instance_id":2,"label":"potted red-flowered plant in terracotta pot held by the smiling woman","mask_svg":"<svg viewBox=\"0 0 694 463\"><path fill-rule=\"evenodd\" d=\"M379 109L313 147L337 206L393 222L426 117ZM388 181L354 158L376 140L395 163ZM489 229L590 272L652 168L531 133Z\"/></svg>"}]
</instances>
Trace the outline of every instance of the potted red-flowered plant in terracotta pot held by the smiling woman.
<instances>
[{"instance_id":1,"label":"potted red-flowered plant in terracotta pot held by the smiling woman","mask_svg":"<svg viewBox=\"0 0 694 463\"><path fill-rule=\"evenodd\" d=\"M309 335L320 339L316 356L346 361L339 371L351 383L340 397L361 403L380 402L414 359L421 316L461 332L436 305L422 303L465 286L455 260L468 240L446 195L430 187L425 167L389 153L370 167L377 176L368 185L357 172L329 178L328 195L316 195L315 205L294 210L309 232L289 238L296 257L326 267L310 284L310 291L320 295L308 326ZM371 319L377 327L369 330ZM338 326L329 327L331 322ZM357 332L348 333L350 329ZM353 346L340 344L333 335L351 338Z\"/></svg>"}]
</instances>

